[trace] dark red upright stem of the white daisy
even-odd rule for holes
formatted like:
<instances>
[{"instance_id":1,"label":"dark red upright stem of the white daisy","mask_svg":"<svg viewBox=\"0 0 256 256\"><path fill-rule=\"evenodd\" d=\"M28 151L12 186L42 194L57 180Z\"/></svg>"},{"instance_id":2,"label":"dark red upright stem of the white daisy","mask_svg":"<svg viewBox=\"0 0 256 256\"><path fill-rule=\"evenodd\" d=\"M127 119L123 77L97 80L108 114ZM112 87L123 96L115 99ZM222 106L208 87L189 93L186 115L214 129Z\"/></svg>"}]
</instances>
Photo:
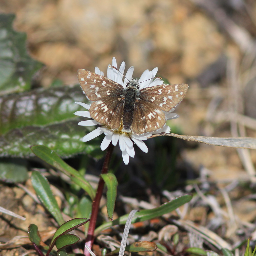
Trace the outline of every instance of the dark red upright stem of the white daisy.
<instances>
[{"instance_id":1,"label":"dark red upright stem of the white daisy","mask_svg":"<svg viewBox=\"0 0 256 256\"><path fill-rule=\"evenodd\" d=\"M102 170L101 170L101 174L105 174L108 172L108 167L109 167L109 161L113 152L113 148L114 146L112 145L112 143L109 144L108 149L107 149L107 153L105 156L105 160L102 166ZM98 188L97 188L97 192L96 192L96 196L92 202L92 214L91 214L91 218L90 218L90 224L89 224L89 229L88 229L88 235L85 241L85 244L92 249L92 244L94 241L94 230L95 230L95 226L96 226L96 220L98 217L98 212L99 212L99 205L100 205L100 199L102 197L102 192L103 192L103 188L104 188L104 180L100 177L99 180L99 184L98 184ZM86 249L86 247L84 248L84 255L85 256L90 256L90 252Z\"/></svg>"}]
</instances>

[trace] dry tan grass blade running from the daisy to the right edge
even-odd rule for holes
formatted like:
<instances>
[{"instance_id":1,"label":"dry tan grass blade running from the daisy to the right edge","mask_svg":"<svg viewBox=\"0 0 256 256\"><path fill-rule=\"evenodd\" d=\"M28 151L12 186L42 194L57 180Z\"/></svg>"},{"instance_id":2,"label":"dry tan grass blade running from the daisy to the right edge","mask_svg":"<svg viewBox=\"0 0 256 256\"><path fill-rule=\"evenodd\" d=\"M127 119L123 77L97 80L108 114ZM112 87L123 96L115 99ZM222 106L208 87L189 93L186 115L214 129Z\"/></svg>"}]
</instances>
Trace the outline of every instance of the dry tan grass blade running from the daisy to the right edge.
<instances>
[{"instance_id":1,"label":"dry tan grass blade running from the daisy to the right edge","mask_svg":"<svg viewBox=\"0 0 256 256\"><path fill-rule=\"evenodd\" d=\"M158 133L153 134L151 137L157 136L173 136L187 141L202 142L208 145L223 146L223 147L235 147L235 148L250 148L256 149L256 139L251 137L239 137L239 138L218 138L218 137L206 137L206 136L190 136L179 135L176 133Z\"/></svg>"}]
</instances>

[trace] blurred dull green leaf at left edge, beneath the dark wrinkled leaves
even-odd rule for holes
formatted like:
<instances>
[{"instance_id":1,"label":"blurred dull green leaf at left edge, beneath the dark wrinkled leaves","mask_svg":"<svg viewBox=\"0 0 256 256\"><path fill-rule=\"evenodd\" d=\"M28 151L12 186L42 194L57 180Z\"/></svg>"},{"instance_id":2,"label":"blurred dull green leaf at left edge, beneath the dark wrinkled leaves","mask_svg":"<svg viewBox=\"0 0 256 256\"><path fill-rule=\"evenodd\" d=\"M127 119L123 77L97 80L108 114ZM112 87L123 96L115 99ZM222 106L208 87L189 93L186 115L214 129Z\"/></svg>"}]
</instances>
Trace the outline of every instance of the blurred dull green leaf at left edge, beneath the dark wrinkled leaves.
<instances>
[{"instance_id":1,"label":"blurred dull green leaf at left edge, beneath the dark wrinkled leaves","mask_svg":"<svg viewBox=\"0 0 256 256\"><path fill-rule=\"evenodd\" d=\"M27 161L24 159L1 159L0 179L5 182L24 182L28 179Z\"/></svg>"}]
</instances>

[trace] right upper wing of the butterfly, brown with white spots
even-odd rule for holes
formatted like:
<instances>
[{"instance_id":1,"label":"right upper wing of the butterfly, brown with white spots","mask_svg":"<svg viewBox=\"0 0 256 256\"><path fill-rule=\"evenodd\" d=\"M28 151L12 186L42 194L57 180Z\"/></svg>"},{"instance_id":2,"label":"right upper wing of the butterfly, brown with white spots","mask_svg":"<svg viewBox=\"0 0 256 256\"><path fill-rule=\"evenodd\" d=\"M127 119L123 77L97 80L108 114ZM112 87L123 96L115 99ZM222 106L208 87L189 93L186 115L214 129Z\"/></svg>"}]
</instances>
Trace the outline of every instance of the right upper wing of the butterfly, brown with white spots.
<instances>
[{"instance_id":1,"label":"right upper wing of the butterfly, brown with white spots","mask_svg":"<svg viewBox=\"0 0 256 256\"><path fill-rule=\"evenodd\" d=\"M187 90L185 83L157 85L141 89L140 98L156 104L161 110L170 111L183 100Z\"/></svg>"}]
</instances>

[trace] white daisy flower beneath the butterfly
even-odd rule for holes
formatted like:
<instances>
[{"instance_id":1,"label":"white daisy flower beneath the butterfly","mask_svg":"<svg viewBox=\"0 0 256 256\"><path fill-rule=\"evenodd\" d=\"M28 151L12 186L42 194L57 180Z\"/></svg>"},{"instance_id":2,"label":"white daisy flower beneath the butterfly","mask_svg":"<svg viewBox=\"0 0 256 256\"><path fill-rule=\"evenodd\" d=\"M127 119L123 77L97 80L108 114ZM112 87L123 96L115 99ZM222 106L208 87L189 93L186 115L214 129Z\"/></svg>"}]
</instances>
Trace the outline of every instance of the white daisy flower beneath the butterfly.
<instances>
[{"instance_id":1,"label":"white daisy flower beneath the butterfly","mask_svg":"<svg viewBox=\"0 0 256 256\"><path fill-rule=\"evenodd\" d=\"M124 88L126 87L126 84L129 83L129 81L132 79L132 74L134 67L130 67L125 75L125 78L123 79L123 73L125 69L125 62L123 61L119 71L109 67L107 69L107 77L119 84L121 84ZM117 63L116 59L113 58L112 60L112 66L117 68ZM151 86L156 86L156 85L161 85L163 84L164 81L162 81L159 78L152 79L156 76L158 68L154 68L152 71L149 71L148 69L143 72L141 75L140 79L138 79L138 83L140 83L140 89L146 88L146 87L151 87ZM104 73L100 71L98 67L95 67L95 73L104 76ZM85 109L89 110L90 105L82 103L82 102L75 102L81 106L83 106ZM172 110L169 112L165 112L166 115L166 120L170 119L175 119L178 118L179 116L176 113L172 113ZM75 115L86 117L86 118L91 118L89 111L77 111L74 113ZM97 129L93 130L92 132L88 133L82 138L83 142L87 142L92 140L93 138L99 136L100 134L104 133L105 137L100 145L101 150L105 150L110 143L112 143L114 146L117 145L119 142L119 147L122 151L122 156L123 156L123 161L125 164L129 163L129 156L134 157L135 152L133 148L133 142L145 153L148 152L148 148L145 145L143 141L147 140L148 137L150 137L153 133L169 133L170 132L170 127L167 126L166 124L161 128L153 132L148 132L144 134L133 134L133 133L120 133L117 131L111 130L111 127L105 126L104 124L101 124L95 120L86 120L86 121L81 121L78 123L78 125L83 125L83 126L92 126L92 125L99 125Z\"/></svg>"}]
</instances>

